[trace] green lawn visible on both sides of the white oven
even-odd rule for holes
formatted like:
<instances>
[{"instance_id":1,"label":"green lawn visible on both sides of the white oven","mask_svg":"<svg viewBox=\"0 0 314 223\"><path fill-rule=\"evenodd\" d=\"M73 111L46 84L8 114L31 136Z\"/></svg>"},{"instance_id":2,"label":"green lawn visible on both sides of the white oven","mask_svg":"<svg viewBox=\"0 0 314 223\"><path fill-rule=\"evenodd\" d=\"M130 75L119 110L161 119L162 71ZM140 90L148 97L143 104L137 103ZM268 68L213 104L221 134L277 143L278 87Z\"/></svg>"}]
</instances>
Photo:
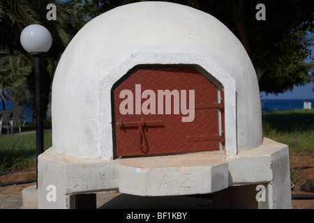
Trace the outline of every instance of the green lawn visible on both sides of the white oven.
<instances>
[{"instance_id":1,"label":"green lawn visible on both sides of the white oven","mask_svg":"<svg viewBox=\"0 0 314 223\"><path fill-rule=\"evenodd\" d=\"M314 154L314 109L263 112L263 135L287 144L290 151ZM50 128L49 123L45 128ZM24 129L35 130L29 123ZM44 133L44 149L52 146L52 131ZM0 136L0 172L36 167L36 133Z\"/></svg>"}]
</instances>

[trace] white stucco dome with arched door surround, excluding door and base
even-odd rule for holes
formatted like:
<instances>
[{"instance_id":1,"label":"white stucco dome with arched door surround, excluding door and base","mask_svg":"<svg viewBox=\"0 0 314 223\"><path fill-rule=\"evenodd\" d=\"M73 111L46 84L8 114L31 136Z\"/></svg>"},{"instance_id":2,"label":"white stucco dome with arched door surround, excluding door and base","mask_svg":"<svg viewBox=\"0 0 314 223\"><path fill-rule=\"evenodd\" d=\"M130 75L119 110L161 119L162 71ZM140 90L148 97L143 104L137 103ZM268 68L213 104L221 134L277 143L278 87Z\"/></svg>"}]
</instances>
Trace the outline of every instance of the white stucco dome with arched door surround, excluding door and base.
<instances>
[{"instance_id":1,"label":"white stucco dome with arched door surround, excluding door and base","mask_svg":"<svg viewBox=\"0 0 314 223\"><path fill-rule=\"evenodd\" d=\"M226 105L226 134L230 129L235 135L230 141L237 151L262 144L257 78L237 37L200 10L140 2L91 20L63 53L52 86L54 150L112 159L111 86L137 64L151 63L197 64L233 83L233 93L224 86L229 97L225 103L234 101L229 106L236 106L228 110Z\"/></svg>"}]
</instances>

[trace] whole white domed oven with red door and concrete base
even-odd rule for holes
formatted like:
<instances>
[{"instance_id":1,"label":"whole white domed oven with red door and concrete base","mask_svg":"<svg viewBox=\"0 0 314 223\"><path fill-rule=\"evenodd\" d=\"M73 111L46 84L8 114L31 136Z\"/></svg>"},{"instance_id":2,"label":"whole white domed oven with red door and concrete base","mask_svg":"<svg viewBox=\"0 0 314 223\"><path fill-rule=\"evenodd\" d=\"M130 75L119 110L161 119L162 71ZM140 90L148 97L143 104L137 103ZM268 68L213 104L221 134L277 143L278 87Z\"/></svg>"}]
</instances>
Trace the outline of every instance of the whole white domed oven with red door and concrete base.
<instances>
[{"instance_id":1,"label":"whole white domed oven with red door and concrete base","mask_svg":"<svg viewBox=\"0 0 314 223\"><path fill-rule=\"evenodd\" d=\"M47 185L56 186L57 201L47 201ZM251 202L256 185L264 185L267 201ZM93 203L87 194L102 190L246 190L246 206L289 208L289 185L287 146L262 137L251 60L211 15L175 3L131 3L91 20L61 56L52 148L38 161L39 208L75 208L77 194ZM217 205L237 203L231 197Z\"/></svg>"}]
</instances>

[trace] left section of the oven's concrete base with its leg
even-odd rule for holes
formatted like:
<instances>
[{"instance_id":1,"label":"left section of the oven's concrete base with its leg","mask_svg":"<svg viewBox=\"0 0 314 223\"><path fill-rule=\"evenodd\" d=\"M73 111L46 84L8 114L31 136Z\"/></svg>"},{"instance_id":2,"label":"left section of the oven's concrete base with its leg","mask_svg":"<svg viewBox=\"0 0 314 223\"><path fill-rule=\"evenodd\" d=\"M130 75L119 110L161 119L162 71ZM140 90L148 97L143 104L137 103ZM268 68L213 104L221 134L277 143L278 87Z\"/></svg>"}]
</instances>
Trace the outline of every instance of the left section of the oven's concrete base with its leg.
<instances>
[{"instance_id":1,"label":"left section of the oven's concrete base with its leg","mask_svg":"<svg viewBox=\"0 0 314 223\"><path fill-rule=\"evenodd\" d=\"M117 162L74 157L53 148L38 156L38 208L80 207L86 196L74 195L117 188Z\"/></svg>"}]
</instances>

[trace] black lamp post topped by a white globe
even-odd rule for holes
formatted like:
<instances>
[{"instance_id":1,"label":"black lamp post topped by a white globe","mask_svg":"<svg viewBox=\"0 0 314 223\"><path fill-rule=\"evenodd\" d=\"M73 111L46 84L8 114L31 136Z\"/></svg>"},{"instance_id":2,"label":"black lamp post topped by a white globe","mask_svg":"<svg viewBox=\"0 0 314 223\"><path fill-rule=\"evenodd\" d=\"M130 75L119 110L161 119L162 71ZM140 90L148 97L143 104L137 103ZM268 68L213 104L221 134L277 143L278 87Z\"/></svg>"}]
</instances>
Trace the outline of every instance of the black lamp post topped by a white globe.
<instances>
[{"instance_id":1,"label":"black lamp post topped by a white globe","mask_svg":"<svg viewBox=\"0 0 314 223\"><path fill-rule=\"evenodd\" d=\"M38 24L23 29L20 41L22 47L33 57L35 71L36 103L36 188L38 188L38 155L43 153L43 54L52 45L50 32Z\"/></svg>"}]
</instances>

